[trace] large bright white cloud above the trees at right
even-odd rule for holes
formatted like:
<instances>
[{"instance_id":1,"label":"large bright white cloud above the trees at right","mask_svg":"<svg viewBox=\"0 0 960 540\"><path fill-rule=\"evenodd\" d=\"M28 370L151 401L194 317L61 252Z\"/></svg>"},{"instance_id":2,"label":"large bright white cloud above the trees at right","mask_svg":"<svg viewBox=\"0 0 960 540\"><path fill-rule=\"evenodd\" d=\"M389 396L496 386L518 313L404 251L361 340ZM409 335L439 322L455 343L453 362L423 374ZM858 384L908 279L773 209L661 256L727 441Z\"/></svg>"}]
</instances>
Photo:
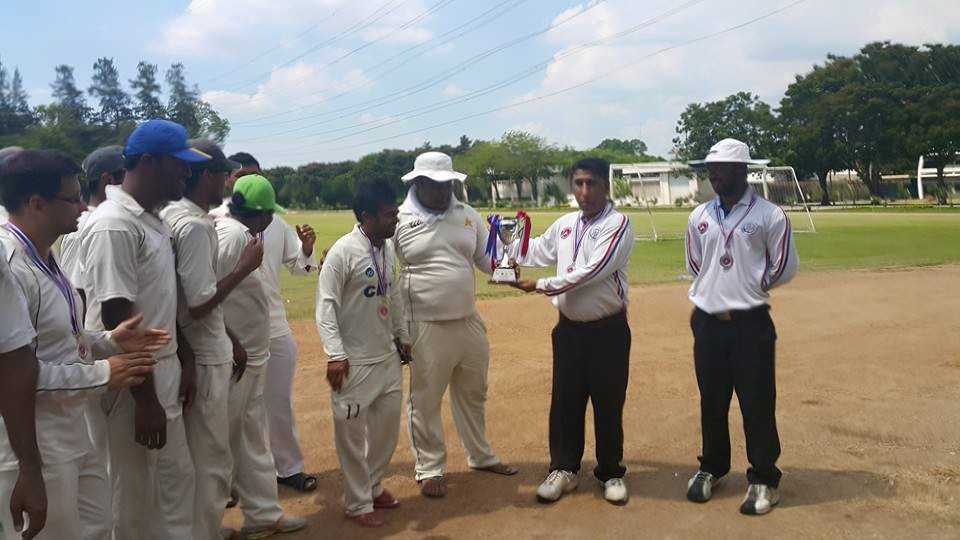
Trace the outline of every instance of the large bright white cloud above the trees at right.
<instances>
[{"instance_id":1,"label":"large bright white cloud above the trees at right","mask_svg":"<svg viewBox=\"0 0 960 540\"><path fill-rule=\"evenodd\" d=\"M578 45L655 19L677 3L644 2L642 12L636 3L617 1L586 12L587 4L565 9L555 24L582 15L544 37L558 48L554 59L538 87L513 102L602 78L498 118L543 125L551 139L581 147L604 137L639 136L652 152L667 156L676 121L688 103L748 91L776 106L794 76L822 63L828 53L852 54L872 41L922 44L960 38L956 0L809 0L758 24L655 54L787 3L745 0L719 12L702 3L582 51Z\"/></svg>"}]
</instances>

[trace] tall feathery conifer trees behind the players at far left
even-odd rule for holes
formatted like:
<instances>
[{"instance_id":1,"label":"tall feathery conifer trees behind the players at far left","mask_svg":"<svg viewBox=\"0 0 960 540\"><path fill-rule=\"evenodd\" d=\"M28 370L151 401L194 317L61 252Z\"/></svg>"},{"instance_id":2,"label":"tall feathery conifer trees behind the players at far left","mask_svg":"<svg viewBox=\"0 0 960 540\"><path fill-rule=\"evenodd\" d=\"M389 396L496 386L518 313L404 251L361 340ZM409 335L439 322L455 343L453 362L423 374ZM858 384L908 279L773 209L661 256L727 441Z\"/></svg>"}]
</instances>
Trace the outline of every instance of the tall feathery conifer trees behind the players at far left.
<instances>
[{"instance_id":1,"label":"tall feathery conifer trees behind the players at far left","mask_svg":"<svg viewBox=\"0 0 960 540\"><path fill-rule=\"evenodd\" d=\"M112 58L93 64L90 86L83 90L73 67L54 68L50 84L53 101L32 107L19 68L0 61L0 147L56 148L81 160L93 150L123 144L138 122L166 118L184 125L195 137L223 142L230 123L187 81L183 64L164 73L166 100L156 64L140 62L136 76L121 82ZM89 100L88 100L89 98Z\"/></svg>"}]
</instances>

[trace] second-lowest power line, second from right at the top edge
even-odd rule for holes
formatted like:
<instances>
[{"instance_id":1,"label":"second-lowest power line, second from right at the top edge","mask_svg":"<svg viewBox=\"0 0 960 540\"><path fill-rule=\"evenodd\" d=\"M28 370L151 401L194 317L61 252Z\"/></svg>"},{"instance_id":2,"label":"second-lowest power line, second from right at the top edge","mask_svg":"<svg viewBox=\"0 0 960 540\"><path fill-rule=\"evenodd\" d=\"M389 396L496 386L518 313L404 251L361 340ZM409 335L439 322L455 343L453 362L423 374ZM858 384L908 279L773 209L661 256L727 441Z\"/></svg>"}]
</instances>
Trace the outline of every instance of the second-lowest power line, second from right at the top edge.
<instances>
[{"instance_id":1,"label":"second-lowest power line, second from right at the top edge","mask_svg":"<svg viewBox=\"0 0 960 540\"><path fill-rule=\"evenodd\" d=\"M629 35L631 35L631 34L635 34L635 33L639 32L640 30L643 30L643 29L649 28L649 27L651 27L651 26L654 26L654 25L656 25L657 23L660 23L660 22L666 20L667 18L669 18L669 17L671 17L671 16L673 16L673 15L676 15L676 14L678 14L678 13L680 13L680 12L686 10L686 9L689 9L690 7L693 7L693 6L697 5L697 4L701 4L701 3L705 2L705 1L706 1L706 0L688 0L687 2L685 2L685 3L683 3L683 4L680 4L680 5L678 5L678 6L674 7L674 8L671 8L671 9L669 9L669 10L667 10L667 11L665 11L665 12L659 14L659 15L656 15L656 16L654 16L654 17L651 17L651 18L649 18L649 19L646 19L646 20L644 20L643 22L641 22L641 23L639 23L639 24L637 24L637 25L634 25L634 26L632 26L632 27L630 27L630 28L627 28L627 29L622 30L622 31L620 31L620 32L617 32L617 33L615 33L615 34L611 34L610 36L607 36L607 37L604 37L604 38L595 39L595 40L593 40L593 41L588 41L588 42L582 43L582 44L580 44L580 45L577 45L577 46L575 46L575 47L573 47L573 48L571 48L571 49L568 49L568 50L566 50L566 51L563 51L563 52L560 53L560 54L551 56L550 58L548 58L548 59L546 59L546 60L544 60L544 61L542 61L542 62L539 62L539 63L537 63L537 64L534 64L534 65L532 65L532 66L530 66L530 67L527 67L527 68L525 68L525 69L523 69L523 70L521 70L521 71L519 71L519 72L517 72L517 73L515 73L515 74L513 74L513 75L511 75L511 76L509 76L509 77L507 77L507 78L505 78L505 79L502 79L502 80L500 80L500 81L498 81L498 82L496 82L496 83L493 83L493 84L491 84L491 85L489 85L489 86L486 86L486 87L484 87L484 88L481 88L481 89L479 89L479 90L475 90L475 91L473 91L473 92L470 92L469 94L466 94L466 95L464 95L464 96L459 96L459 97L451 98L451 99L448 99L448 100L445 100L445 101L441 101L440 103L434 103L434 104L431 104L431 105L428 105L428 106L425 106L425 107L418 107L418 108L415 108L415 109L412 109L412 110L404 111L404 112L399 113L399 114L397 114L397 115L393 115L391 118L389 118L389 119L387 119L387 120L383 120L383 119L380 119L380 120L370 120L370 121L366 121L366 122L360 122L359 124L354 124L354 125L351 125L351 126L344 126L344 127L339 127L339 128L331 128L331 129L328 129L328 130L325 130L325 131L320 131L320 132L311 133L311 134L307 135L307 137L313 137L313 136L317 136L317 135L324 135L324 134L330 134L330 133L338 133L338 132L347 131L347 130L350 130L350 129L364 128L365 126L369 126L369 125L372 125L372 124L379 124L379 125L376 125L376 126L374 126L374 127L368 127L368 128L365 128L365 129L360 129L359 131L356 131L355 133L352 133L352 134L349 134L349 135L346 135L346 136L345 136L345 137L351 137L351 136L354 136L354 135L359 135L359 134L362 134L362 133L367 133L367 132L372 131L372 130L374 130L374 129L380 129L380 128L382 128L382 127L386 127L386 126L388 126L388 125L392 125L392 124L398 123L398 122L400 122L400 121L407 120L407 119L409 119L409 118L415 118L415 117L418 117L418 116L423 116L424 114L428 114L428 113L435 112L435 111L438 111L438 110L441 110L441 109L445 109L445 108L448 108L448 107L452 107L452 106L454 106L454 105L459 105L459 104L461 104L461 103L466 103L466 102L468 102L468 101L473 101L473 100L475 100L475 99L478 99L478 98L480 98L480 97L483 97L483 96L485 96L485 95L488 95L488 94L490 94L490 93L493 93L493 92L495 92L495 91L497 91L497 90L501 90L501 89L506 88L506 87L508 87L508 86L512 86L512 85L520 82L520 81L523 80L523 79L526 79L526 78L528 78L528 77L530 77L530 76L532 76L532 75L534 75L534 74L536 74L536 73L538 73L538 72L540 72L540 71L543 71L544 69L546 69L547 67L549 67L550 64L553 63L555 60L561 60L561 59L567 58L567 57L569 57L569 56L574 56L574 55L576 55L576 54L580 54L580 53L582 53L582 52L584 52L584 51L586 51L586 50L588 50L588 49L590 49L590 48L596 47L596 46L598 46L598 45L610 43L610 42L612 42L612 41L616 41L616 40L618 40L618 39L622 39L622 38L624 38L624 37L627 37L627 36L629 36ZM371 109L372 109L372 108L376 108L376 107L371 107ZM369 110L369 109L367 109L367 110ZM345 118L345 117L348 117L348 116L353 116L354 114L357 114L358 112L366 112L366 110L353 111L353 112L346 113L346 114L343 114L343 115L340 115L340 116L337 116L337 117L334 117L334 118L330 118L330 119L328 119L328 120L330 120L330 121L332 121L332 120L338 120L338 119ZM259 137L252 137L252 138L247 138L247 139L240 139L240 140L238 140L237 142L250 142L250 141L256 141L256 140L262 140L262 139L270 138L270 137L273 137L273 136L286 135L286 134L295 133L295 132L298 132L298 131L303 131L303 130L305 130L305 129L309 129L310 127L311 127L311 126L303 126L303 127L293 128L293 129L289 129L289 130L285 130L285 131L275 132L275 133L272 133L272 134L270 134L270 135L263 135L263 136L259 136Z\"/></svg>"}]
</instances>

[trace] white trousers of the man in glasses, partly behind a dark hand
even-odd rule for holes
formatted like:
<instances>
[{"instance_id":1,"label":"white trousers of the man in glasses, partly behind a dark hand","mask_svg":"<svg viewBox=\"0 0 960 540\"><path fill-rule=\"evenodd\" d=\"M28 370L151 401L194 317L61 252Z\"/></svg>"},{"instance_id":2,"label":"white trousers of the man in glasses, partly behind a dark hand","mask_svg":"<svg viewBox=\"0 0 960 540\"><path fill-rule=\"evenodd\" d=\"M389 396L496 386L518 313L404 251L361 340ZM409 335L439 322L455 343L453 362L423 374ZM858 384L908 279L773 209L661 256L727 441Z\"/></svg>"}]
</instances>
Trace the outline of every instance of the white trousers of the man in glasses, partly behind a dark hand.
<instances>
[{"instance_id":1,"label":"white trousers of the man in glasses, partly behind a dark hand","mask_svg":"<svg viewBox=\"0 0 960 540\"><path fill-rule=\"evenodd\" d=\"M18 470L0 471L0 540L20 540L13 529L10 496L17 484ZM67 463L43 465L43 481L47 488L47 524L37 540L79 538L80 511L77 506L80 459ZM27 518L24 516L24 529Z\"/></svg>"}]
</instances>

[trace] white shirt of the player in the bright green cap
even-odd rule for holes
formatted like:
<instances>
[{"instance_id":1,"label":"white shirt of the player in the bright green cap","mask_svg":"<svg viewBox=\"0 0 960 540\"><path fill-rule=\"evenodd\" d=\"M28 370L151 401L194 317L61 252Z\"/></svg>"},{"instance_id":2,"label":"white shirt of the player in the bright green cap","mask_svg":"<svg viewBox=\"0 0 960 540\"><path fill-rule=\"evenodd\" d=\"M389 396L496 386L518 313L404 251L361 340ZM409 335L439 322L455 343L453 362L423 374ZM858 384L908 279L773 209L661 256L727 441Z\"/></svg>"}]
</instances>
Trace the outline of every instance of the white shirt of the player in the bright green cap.
<instances>
[{"instance_id":1,"label":"white shirt of the player in the bright green cap","mask_svg":"<svg viewBox=\"0 0 960 540\"><path fill-rule=\"evenodd\" d=\"M240 261L243 248L253 238L246 225L233 216L215 219L217 279L223 279ZM223 321L247 352L247 365L262 366L270 357L270 305L264 289L263 265L251 272L223 301Z\"/></svg>"}]
</instances>

